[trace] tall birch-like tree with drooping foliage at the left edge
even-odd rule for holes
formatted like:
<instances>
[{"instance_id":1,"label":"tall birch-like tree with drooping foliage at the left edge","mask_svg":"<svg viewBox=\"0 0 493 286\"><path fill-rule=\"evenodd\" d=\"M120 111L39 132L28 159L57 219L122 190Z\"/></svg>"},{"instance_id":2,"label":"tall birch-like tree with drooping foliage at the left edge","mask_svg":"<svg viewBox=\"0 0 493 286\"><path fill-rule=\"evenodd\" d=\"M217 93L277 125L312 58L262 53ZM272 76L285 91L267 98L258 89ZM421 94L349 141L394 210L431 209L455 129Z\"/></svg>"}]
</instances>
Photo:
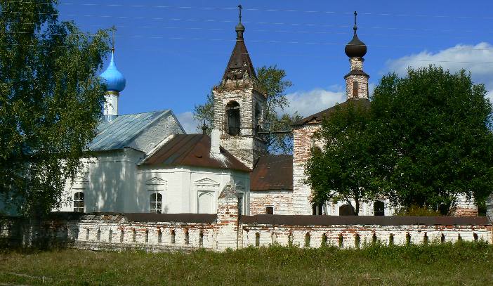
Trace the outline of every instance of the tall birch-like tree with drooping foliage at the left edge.
<instances>
[{"instance_id":1,"label":"tall birch-like tree with drooping foliage at the left edge","mask_svg":"<svg viewBox=\"0 0 493 286\"><path fill-rule=\"evenodd\" d=\"M54 0L0 2L0 200L41 216L96 136L107 32L58 21Z\"/></svg>"}]
</instances>

